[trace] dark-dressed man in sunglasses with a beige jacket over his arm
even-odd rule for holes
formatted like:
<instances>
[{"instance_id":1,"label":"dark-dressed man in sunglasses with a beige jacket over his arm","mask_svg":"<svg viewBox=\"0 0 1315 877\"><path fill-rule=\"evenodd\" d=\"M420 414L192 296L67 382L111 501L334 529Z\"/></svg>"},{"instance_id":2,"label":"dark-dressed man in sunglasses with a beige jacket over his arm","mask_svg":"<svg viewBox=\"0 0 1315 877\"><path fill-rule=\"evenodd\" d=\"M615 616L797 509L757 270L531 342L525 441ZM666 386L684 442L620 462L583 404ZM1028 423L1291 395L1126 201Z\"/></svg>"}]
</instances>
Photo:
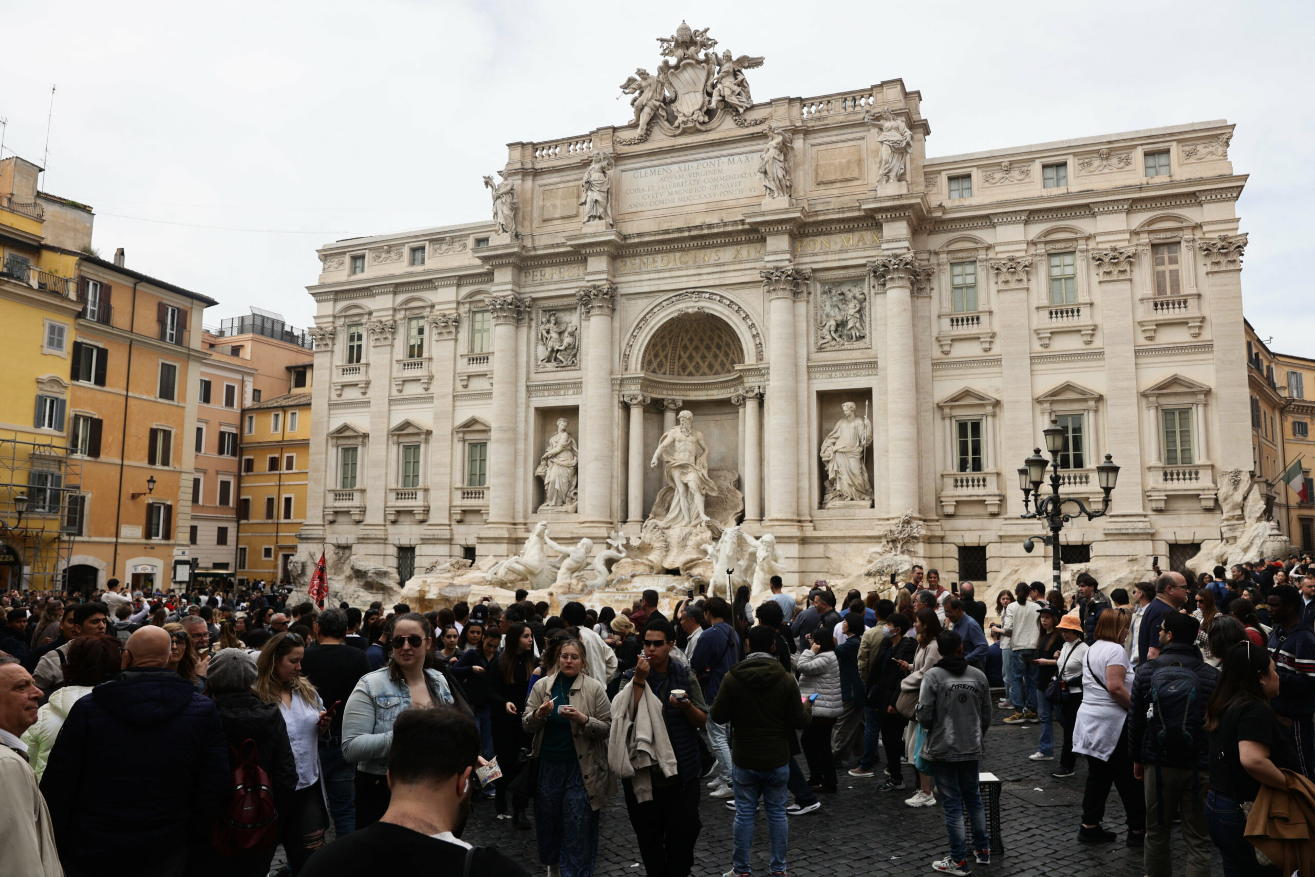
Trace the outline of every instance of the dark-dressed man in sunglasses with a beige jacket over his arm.
<instances>
[{"instance_id":1,"label":"dark-dressed man in sunglasses with a beige jacket over his arm","mask_svg":"<svg viewBox=\"0 0 1315 877\"><path fill-rule=\"evenodd\" d=\"M638 709L644 690L663 706L663 723L676 757L676 776L648 770L651 797L640 801L633 780L622 780L626 810L635 828L644 870L655 877L685 877L694 866L694 843L704 828L698 818L698 774L701 764L698 730L707 723L707 703L698 678L671 656L676 630L665 618L644 626L644 653L635 668L626 671L630 682L621 697L633 694ZM682 693L681 697L672 692ZM629 756L626 756L629 757Z\"/></svg>"}]
</instances>

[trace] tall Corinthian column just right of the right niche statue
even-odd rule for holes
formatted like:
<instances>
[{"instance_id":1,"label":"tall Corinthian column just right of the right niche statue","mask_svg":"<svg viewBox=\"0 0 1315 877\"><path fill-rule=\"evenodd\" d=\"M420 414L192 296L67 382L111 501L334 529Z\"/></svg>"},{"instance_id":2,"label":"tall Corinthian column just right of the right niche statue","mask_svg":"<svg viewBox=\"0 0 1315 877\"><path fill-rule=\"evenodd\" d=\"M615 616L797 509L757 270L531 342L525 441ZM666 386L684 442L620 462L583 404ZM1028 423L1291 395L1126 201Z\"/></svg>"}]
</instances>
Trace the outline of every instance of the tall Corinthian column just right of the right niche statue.
<instances>
[{"instance_id":1,"label":"tall Corinthian column just right of the right niche statue","mask_svg":"<svg viewBox=\"0 0 1315 877\"><path fill-rule=\"evenodd\" d=\"M920 514L918 502L918 412L910 405L917 394L918 376L913 348L913 281L918 264L911 252L882 256L868 263L877 283L886 291L886 373L888 489L890 513Z\"/></svg>"}]
</instances>

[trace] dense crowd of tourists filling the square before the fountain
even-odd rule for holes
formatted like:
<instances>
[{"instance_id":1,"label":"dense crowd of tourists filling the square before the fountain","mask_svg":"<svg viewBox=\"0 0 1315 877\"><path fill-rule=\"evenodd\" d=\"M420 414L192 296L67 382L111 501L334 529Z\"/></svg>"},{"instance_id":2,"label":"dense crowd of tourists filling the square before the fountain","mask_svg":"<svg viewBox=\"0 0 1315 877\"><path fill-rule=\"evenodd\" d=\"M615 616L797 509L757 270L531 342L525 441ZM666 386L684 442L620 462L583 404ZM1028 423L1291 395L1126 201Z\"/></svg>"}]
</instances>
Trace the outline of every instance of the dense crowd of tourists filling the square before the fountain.
<instances>
[{"instance_id":1,"label":"dense crowd of tourists filling the square before the fountain","mask_svg":"<svg viewBox=\"0 0 1315 877\"><path fill-rule=\"evenodd\" d=\"M701 807L725 806L727 877L751 874L759 814L784 877L790 820L840 772L940 807L930 865L967 874L992 856L980 772L1022 739L1057 784L1084 757L1077 840L1119 839L1114 792L1151 877L1174 826L1189 877L1216 857L1226 877L1315 876L1308 559L1155 567L1131 593L1019 582L994 611L970 582L907 579L898 600L819 581L798 605L775 577L759 600L648 590L621 611L11 592L0 877L263 877L279 848L308 877L522 877L462 839L477 802L534 832L548 877L592 877L618 784L646 873L689 874ZM997 715L1039 738L988 740Z\"/></svg>"}]
</instances>

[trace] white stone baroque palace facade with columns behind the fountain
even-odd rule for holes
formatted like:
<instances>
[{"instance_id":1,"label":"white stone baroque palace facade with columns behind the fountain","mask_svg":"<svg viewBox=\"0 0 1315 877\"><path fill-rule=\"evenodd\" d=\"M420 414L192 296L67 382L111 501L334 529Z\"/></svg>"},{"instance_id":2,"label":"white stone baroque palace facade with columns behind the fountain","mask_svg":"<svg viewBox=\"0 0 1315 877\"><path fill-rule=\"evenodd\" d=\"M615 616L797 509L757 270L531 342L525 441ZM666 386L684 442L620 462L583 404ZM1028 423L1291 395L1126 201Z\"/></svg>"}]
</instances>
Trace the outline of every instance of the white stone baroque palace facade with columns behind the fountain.
<instances>
[{"instance_id":1,"label":"white stone baroque palace facade with columns behind the fountain","mask_svg":"<svg viewBox=\"0 0 1315 877\"><path fill-rule=\"evenodd\" d=\"M792 585L859 571L903 513L949 579L1020 568L1016 471L1052 418L1065 492L1098 508L1094 467L1122 467L1066 561L1181 565L1240 529L1230 124L927 158L901 80L753 103L761 58L663 42L630 125L509 145L493 221L318 251L316 557L405 580L538 521L635 535L684 412L719 514L773 534Z\"/></svg>"}]
</instances>

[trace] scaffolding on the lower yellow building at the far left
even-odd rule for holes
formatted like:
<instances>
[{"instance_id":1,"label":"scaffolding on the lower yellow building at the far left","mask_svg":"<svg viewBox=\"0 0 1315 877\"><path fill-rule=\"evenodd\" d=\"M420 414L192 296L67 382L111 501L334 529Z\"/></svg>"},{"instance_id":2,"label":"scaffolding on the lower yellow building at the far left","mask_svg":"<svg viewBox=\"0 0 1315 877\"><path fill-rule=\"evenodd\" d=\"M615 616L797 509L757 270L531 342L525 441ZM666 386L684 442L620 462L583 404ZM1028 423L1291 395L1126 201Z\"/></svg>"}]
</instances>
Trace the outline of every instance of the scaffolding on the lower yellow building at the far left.
<instances>
[{"instance_id":1,"label":"scaffolding on the lower yellow building at the far left","mask_svg":"<svg viewBox=\"0 0 1315 877\"><path fill-rule=\"evenodd\" d=\"M82 460L71 450L63 437L0 438L0 543L5 547L0 590L66 589L74 539L85 527Z\"/></svg>"}]
</instances>

